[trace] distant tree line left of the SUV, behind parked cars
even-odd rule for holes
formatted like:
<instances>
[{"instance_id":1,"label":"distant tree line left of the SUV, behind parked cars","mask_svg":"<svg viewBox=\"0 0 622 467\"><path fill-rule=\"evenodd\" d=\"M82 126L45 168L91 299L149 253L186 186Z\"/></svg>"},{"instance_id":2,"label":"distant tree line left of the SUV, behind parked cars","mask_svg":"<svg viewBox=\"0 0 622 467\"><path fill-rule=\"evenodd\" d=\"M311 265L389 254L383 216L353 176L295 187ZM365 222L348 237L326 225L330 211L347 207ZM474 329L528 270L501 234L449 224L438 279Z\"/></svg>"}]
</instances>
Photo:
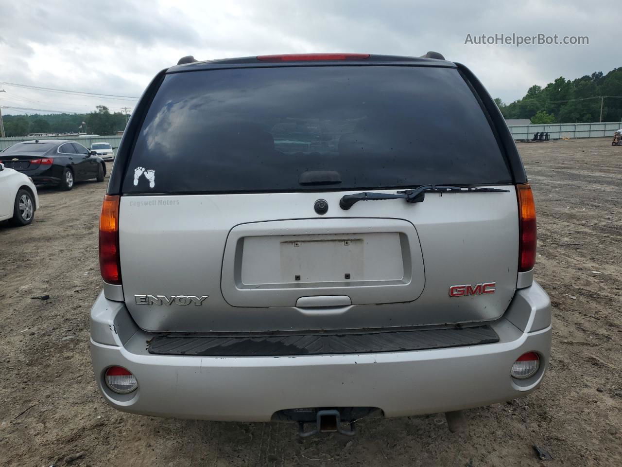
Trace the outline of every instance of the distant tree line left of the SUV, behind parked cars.
<instances>
[{"instance_id":1,"label":"distant tree line left of the SUV, behind parked cars","mask_svg":"<svg viewBox=\"0 0 622 467\"><path fill-rule=\"evenodd\" d=\"M6 136L29 133L88 133L108 135L123 131L127 117L122 112L110 113L104 105L91 113L57 113L50 115L3 115ZM83 124L84 122L84 124Z\"/></svg>"}]
</instances>

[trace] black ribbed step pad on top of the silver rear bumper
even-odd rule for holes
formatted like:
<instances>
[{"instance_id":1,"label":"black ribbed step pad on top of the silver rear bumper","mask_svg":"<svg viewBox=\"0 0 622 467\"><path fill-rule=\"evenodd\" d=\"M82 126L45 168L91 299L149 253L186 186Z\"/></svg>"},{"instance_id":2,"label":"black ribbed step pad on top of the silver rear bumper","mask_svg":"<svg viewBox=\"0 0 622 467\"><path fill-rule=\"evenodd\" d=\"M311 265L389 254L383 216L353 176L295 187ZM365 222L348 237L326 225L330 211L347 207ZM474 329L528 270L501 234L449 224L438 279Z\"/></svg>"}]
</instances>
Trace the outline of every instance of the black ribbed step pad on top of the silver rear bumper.
<instances>
[{"instance_id":1,"label":"black ribbed step pad on top of the silver rear bumper","mask_svg":"<svg viewBox=\"0 0 622 467\"><path fill-rule=\"evenodd\" d=\"M209 357L276 357L298 355L367 354L404 352L447 347L476 346L498 342L490 326L374 331L348 333L250 334L227 336L167 334L148 341L147 350L157 355Z\"/></svg>"}]
</instances>

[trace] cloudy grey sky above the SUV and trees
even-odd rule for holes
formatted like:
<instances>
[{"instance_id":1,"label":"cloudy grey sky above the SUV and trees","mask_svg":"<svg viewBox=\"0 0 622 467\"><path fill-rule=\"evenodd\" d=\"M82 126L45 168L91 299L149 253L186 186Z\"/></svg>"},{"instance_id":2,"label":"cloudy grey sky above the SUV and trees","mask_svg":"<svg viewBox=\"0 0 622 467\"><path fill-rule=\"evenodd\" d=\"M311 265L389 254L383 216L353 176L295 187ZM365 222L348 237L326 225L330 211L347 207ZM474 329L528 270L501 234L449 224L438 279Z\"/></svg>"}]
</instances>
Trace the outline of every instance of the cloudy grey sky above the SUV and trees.
<instances>
[{"instance_id":1,"label":"cloudy grey sky above the SUV and trees","mask_svg":"<svg viewBox=\"0 0 622 467\"><path fill-rule=\"evenodd\" d=\"M589 45L465 44L467 34L502 33L581 35ZM136 100L9 83L134 97L183 55L427 50L467 65L493 97L509 102L533 84L620 67L620 39L619 0L0 0L0 105L7 114L24 110L6 106L119 111Z\"/></svg>"}]
</instances>

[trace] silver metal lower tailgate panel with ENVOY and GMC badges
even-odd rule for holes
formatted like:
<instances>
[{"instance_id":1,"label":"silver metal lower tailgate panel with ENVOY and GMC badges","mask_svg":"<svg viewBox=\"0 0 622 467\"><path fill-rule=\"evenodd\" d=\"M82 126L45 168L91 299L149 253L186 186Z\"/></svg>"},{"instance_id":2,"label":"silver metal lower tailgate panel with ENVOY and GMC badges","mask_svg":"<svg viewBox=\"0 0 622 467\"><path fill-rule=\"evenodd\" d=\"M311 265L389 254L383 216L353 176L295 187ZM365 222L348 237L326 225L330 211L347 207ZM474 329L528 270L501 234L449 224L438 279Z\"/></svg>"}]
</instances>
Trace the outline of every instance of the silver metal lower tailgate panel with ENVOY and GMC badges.
<instances>
[{"instance_id":1,"label":"silver metal lower tailgate panel with ENVOY and GMC badges","mask_svg":"<svg viewBox=\"0 0 622 467\"><path fill-rule=\"evenodd\" d=\"M516 192L502 188L509 191L426 194L415 204L358 202L347 211L339 199L353 191L123 196L124 299L145 331L353 329L498 319L518 278ZM313 210L318 198L328 202L325 215ZM317 249L320 240L328 240L328 249ZM352 240L346 249L358 253L337 248L345 240ZM307 252L294 252L295 242ZM332 256L340 258L333 265ZM346 269L350 279L338 280ZM452 285L485 282L496 283L494 293L448 294ZM209 297L200 306L161 306L136 304L134 295ZM322 307L299 306L309 296L341 298L334 305L322 299Z\"/></svg>"}]
</instances>

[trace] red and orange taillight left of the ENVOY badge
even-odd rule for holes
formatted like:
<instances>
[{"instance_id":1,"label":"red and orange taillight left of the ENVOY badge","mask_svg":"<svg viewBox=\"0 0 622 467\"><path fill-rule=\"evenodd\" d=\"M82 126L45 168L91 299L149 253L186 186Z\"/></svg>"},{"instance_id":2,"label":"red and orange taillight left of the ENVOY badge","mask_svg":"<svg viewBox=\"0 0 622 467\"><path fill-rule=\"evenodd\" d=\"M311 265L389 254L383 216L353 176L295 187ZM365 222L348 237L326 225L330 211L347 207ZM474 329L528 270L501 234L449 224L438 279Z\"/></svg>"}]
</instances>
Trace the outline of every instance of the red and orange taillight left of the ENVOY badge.
<instances>
[{"instance_id":1,"label":"red and orange taillight left of the ENVOY badge","mask_svg":"<svg viewBox=\"0 0 622 467\"><path fill-rule=\"evenodd\" d=\"M100 271L109 284L121 284L119 196L104 196L100 215Z\"/></svg>"}]
</instances>

